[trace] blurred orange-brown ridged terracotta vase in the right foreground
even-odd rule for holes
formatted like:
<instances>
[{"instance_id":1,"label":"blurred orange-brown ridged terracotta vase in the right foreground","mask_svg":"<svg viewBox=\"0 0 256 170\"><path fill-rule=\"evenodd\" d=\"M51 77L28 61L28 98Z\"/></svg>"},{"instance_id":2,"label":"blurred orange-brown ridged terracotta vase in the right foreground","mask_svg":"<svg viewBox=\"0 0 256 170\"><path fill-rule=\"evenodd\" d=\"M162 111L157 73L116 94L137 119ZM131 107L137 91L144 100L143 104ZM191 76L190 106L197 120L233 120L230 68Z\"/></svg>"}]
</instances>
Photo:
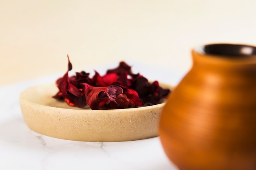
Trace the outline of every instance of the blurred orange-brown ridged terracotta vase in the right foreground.
<instances>
[{"instance_id":1,"label":"blurred orange-brown ridged terracotta vase in the right foreground","mask_svg":"<svg viewBox=\"0 0 256 170\"><path fill-rule=\"evenodd\" d=\"M256 170L256 47L209 44L162 111L159 136L181 170Z\"/></svg>"}]
</instances>

